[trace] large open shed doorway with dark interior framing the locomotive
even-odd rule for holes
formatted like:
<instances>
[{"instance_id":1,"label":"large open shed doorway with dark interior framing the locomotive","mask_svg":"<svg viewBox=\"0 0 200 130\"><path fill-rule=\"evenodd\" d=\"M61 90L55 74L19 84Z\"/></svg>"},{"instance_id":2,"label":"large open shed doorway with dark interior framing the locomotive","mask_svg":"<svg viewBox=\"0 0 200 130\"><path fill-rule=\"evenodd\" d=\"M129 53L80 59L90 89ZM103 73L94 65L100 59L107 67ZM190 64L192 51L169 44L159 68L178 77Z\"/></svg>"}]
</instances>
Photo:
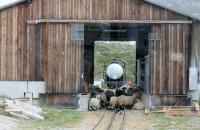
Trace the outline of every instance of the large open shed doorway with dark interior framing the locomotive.
<instances>
[{"instance_id":1,"label":"large open shed doorway with dark interior framing the locomotive","mask_svg":"<svg viewBox=\"0 0 200 130\"><path fill-rule=\"evenodd\" d=\"M126 80L146 88L145 58L149 54L148 36L151 25L85 24L84 30L84 80L86 83L94 84L101 79L105 80L103 77L105 62L119 59L128 63L125 68ZM128 47L128 44L132 46Z\"/></svg>"}]
</instances>

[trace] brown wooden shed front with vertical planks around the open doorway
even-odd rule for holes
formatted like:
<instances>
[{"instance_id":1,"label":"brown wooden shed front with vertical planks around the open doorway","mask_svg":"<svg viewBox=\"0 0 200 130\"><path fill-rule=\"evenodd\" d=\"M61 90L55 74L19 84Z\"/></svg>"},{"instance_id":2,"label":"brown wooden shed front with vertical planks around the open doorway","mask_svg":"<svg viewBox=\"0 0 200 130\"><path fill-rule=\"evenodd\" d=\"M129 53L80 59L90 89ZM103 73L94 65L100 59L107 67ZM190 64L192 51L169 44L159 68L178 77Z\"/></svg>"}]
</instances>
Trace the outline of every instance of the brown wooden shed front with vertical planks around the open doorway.
<instances>
[{"instance_id":1,"label":"brown wooden shed front with vertical planks around the open doorway","mask_svg":"<svg viewBox=\"0 0 200 130\"><path fill-rule=\"evenodd\" d=\"M98 23L150 25L149 93L161 105L185 105L190 61L200 67L200 26L142 0L28 0L1 9L0 80L45 81L45 103L75 106L87 37L73 39L73 26Z\"/></svg>"}]
</instances>

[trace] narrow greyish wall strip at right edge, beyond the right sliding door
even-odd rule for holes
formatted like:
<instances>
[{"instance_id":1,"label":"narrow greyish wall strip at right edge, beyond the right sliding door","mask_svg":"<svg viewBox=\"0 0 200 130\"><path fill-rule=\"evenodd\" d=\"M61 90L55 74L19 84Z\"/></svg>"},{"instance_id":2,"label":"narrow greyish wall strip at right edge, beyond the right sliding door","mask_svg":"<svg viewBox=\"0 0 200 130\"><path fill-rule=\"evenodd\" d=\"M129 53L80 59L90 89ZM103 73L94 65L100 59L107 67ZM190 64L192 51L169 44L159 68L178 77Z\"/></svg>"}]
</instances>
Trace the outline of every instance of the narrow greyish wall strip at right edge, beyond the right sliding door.
<instances>
[{"instance_id":1,"label":"narrow greyish wall strip at right edge, beyond the right sliding door","mask_svg":"<svg viewBox=\"0 0 200 130\"><path fill-rule=\"evenodd\" d=\"M200 81L200 23L192 25L192 44L191 44L191 67L197 67L199 70Z\"/></svg>"}]
</instances>

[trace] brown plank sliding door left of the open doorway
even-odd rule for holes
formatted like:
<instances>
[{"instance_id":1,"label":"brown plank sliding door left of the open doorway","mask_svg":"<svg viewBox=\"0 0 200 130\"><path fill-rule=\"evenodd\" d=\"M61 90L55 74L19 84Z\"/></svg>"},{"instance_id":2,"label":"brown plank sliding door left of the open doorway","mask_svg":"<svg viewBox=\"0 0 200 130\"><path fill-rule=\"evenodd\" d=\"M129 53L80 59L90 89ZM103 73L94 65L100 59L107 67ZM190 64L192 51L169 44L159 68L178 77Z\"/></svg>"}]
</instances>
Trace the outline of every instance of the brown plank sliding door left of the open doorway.
<instances>
[{"instance_id":1,"label":"brown plank sliding door left of the open doorway","mask_svg":"<svg viewBox=\"0 0 200 130\"><path fill-rule=\"evenodd\" d=\"M50 105L76 105L83 73L83 40L72 40L70 24L40 24L28 27L29 73L43 80Z\"/></svg>"}]
</instances>

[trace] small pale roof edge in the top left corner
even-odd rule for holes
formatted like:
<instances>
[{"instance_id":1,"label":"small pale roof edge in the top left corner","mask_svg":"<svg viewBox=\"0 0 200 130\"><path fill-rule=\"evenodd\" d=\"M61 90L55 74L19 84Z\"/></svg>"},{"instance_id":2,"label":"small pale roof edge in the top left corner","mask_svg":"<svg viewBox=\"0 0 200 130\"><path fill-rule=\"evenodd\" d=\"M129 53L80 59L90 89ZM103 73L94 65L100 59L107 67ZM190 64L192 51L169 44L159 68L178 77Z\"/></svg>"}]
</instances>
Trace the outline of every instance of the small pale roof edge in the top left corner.
<instances>
[{"instance_id":1,"label":"small pale roof edge in the top left corner","mask_svg":"<svg viewBox=\"0 0 200 130\"><path fill-rule=\"evenodd\" d=\"M26 0L0 0L0 10L24 1Z\"/></svg>"}]
</instances>

